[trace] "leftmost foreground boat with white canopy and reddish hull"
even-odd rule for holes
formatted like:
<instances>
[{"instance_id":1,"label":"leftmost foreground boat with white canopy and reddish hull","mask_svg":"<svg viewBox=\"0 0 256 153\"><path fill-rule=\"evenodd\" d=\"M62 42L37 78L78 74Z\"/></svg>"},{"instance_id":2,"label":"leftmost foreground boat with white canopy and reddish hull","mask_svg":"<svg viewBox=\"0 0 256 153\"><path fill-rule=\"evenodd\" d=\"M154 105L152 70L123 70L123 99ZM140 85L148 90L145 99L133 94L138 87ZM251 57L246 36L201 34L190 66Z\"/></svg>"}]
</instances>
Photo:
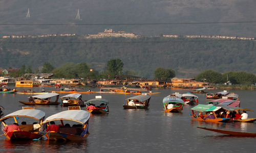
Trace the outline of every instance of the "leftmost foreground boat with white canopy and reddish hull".
<instances>
[{"instance_id":1,"label":"leftmost foreground boat with white canopy and reddish hull","mask_svg":"<svg viewBox=\"0 0 256 153\"><path fill-rule=\"evenodd\" d=\"M35 110L33 107L23 107L22 110L10 113L0 119L2 121L2 126L5 128L8 124L12 124L13 120L15 123L20 123L24 120L28 121L29 124L18 125L21 131L10 131L8 133L4 132L4 135L8 140L34 140L39 139L43 135L39 133L42 121L45 118L45 112L40 110ZM36 122L36 124L34 123Z\"/></svg>"}]
</instances>

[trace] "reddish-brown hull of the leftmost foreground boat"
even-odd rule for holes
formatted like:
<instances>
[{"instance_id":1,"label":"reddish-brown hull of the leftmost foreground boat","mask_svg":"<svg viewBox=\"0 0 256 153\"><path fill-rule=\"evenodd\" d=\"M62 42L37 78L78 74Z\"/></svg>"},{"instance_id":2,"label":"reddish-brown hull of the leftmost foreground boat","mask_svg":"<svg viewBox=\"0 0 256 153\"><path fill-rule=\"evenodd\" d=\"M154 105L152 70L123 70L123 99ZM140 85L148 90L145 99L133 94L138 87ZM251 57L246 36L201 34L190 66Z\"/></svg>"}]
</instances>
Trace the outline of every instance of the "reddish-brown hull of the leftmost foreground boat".
<instances>
[{"instance_id":1,"label":"reddish-brown hull of the leftmost foreground boat","mask_svg":"<svg viewBox=\"0 0 256 153\"><path fill-rule=\"evenodd\" d=\"M6 134L6 138L11 141L33 140L33 139L39 139L41 137L42 137L42 134L31 133L27 131L11 131Z\"/></svg>"}]
</instances>

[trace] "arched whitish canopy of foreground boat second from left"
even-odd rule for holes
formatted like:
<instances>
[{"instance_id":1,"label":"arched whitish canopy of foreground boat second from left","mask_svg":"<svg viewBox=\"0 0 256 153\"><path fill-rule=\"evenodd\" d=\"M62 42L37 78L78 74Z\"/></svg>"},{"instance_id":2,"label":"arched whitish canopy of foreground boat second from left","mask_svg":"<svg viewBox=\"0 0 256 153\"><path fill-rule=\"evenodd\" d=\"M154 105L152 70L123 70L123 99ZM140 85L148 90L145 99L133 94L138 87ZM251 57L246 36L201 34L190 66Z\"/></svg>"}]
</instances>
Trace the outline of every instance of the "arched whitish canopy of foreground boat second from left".
<instances>
[{"instance_id":1,"label":"arched whitish canopy of foreground boat second from left","mask_svg":"<svg viewBox=\"0 0 256 153\"><path fill-rule=\"evenodd\" d=\"M46 123L53 120L73 120L80 122L82 124L86 123L89 118L90 114L88 111L84 110L68 110L56 113L52 116L46 118L46 120L42 123Z\"/></svg>"}]
</instances>

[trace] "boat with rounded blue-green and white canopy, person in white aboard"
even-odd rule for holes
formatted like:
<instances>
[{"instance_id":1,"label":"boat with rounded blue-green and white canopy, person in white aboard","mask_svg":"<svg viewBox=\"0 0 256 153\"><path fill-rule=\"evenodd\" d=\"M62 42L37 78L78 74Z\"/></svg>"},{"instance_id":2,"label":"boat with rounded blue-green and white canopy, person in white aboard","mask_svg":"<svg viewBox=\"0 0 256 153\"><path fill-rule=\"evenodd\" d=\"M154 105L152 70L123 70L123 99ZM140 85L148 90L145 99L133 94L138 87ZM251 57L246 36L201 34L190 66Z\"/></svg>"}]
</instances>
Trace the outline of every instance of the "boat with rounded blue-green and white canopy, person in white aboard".
<instances>
[{"instance_id":1,"label":"boat with rounded blue-green and white canopy, person in white aboard","mask_svg":"<svg viewBox=\"0 0 256 153\"><path fill-rule=\"evenodd\" d=\"M183 110L184 101L179 97L167 96L163 98L164 112L180 113Z\"/></svg>"}]
</instances>

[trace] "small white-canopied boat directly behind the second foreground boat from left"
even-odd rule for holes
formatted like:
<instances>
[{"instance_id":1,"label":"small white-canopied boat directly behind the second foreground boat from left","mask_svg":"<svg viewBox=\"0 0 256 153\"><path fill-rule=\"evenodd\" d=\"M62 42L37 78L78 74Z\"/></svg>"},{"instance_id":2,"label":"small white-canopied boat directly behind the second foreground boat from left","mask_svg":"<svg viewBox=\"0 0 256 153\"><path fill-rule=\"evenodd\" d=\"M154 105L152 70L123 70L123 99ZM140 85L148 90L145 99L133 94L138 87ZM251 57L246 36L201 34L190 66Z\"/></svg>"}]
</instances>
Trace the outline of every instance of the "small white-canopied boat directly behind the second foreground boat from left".
<instances>
[{"instance_id":1,"label":"small white-canopied boat directly behind the second foreground boat from left","mask_svg":"<svg viewBox=\"0 0 256 153\"><path fill-rule=\"evenodd\" d=\"M60 98L60 105L62 106L84 106L81 93L71 93Z\"/></svg>"}]
</instances>

